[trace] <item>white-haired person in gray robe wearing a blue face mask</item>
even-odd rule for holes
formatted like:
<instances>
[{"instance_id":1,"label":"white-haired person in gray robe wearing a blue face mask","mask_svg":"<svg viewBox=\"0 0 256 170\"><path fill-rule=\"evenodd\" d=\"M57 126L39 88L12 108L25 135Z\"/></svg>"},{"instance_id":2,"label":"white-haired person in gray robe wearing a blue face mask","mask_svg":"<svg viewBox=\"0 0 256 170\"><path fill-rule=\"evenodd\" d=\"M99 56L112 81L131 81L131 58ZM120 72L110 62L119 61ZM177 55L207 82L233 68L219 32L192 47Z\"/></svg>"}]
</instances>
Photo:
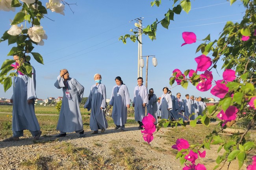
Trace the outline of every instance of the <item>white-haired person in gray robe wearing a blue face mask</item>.
<instances>
[{"instance_id":1,"label":"white-haired person in gray robe wearing a blue face mask","mask_svg":"<svg viewBox=\"0 0 256 170\"><path fill-rule=\"evenodd\" d=\"M84 105L84 108L87 108L88 111L91 110L90 128L93 130L91 134L98 133L99 129L103 133L108 128L108 122L104 113L104 108L106 107L106 87L104 84L101 84L100 74L95 74L94 80L96 84L91 86L90 94Z\"/></svg>"}]
</instances>

